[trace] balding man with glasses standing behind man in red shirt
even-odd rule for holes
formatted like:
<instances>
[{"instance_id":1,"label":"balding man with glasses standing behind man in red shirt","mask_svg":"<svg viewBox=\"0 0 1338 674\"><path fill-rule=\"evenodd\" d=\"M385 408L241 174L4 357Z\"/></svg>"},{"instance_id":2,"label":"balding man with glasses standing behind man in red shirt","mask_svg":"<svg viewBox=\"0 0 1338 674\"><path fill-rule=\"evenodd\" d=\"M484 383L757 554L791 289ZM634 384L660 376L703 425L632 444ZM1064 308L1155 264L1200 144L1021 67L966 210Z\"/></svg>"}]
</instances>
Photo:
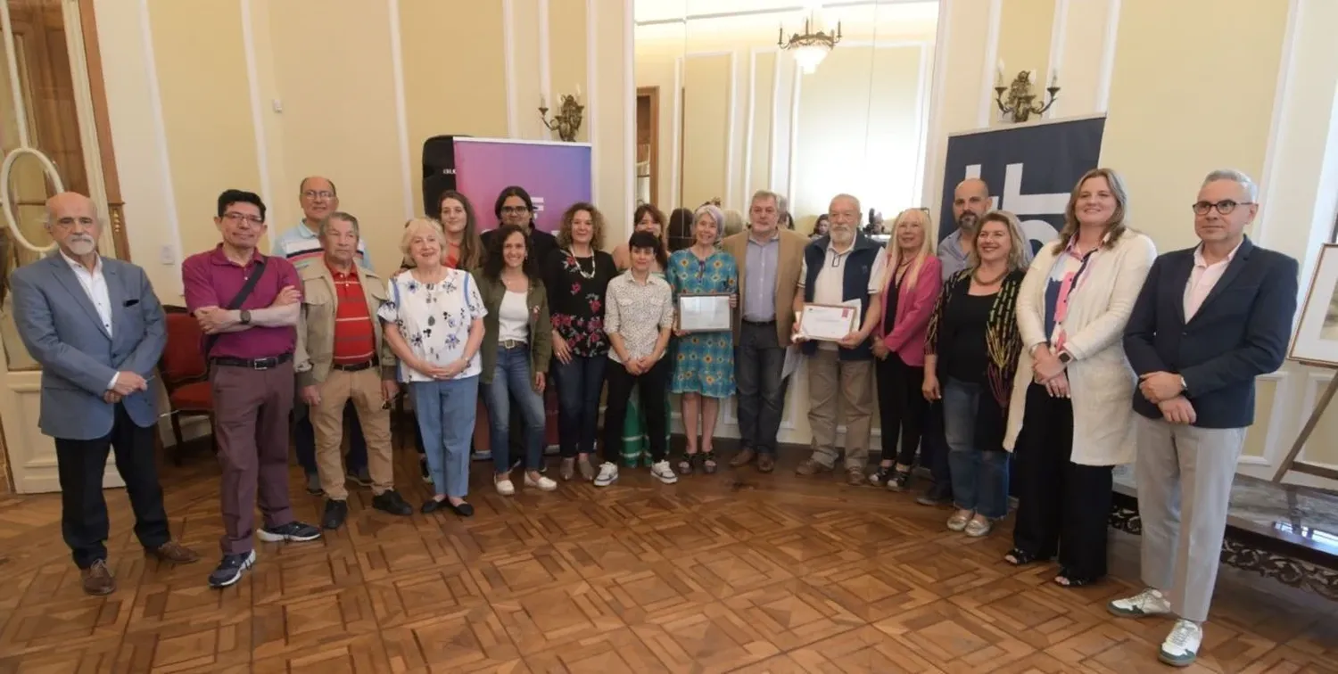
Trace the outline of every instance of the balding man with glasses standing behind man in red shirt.
<instances>
[{"instance_id":1,"label":"balding man with glasses standing behind man in red shirt","mask_svg":"<svg viewBox=\"0 0 1338 674\"><path fill-rule=\"evenodd\" d=\"M270 254L292 262L298 271L302 271L313 262L320 263L322 259L324 247L318 235L320 226L321 221L339 210L339 190L334 189L334 182L329 178L312 175L298 183L297 199L302 206L302 219L274 238ZM367 255L367 242L361 238L357 241L353 259L363 269L372 269L372 261ZM316 429L312 425L310 407L302 400L296 400L293 417L296 421L293 424L293 444L297 448L297 463L306 473L306 493L316 496L324 489L316 465ZM349 436L347 479L363 487L371 487L372 476L367 469L367 439L363 436L363 425L352 403L344 408L344 424L348 427Z\"/></svg>"}]
</instances>

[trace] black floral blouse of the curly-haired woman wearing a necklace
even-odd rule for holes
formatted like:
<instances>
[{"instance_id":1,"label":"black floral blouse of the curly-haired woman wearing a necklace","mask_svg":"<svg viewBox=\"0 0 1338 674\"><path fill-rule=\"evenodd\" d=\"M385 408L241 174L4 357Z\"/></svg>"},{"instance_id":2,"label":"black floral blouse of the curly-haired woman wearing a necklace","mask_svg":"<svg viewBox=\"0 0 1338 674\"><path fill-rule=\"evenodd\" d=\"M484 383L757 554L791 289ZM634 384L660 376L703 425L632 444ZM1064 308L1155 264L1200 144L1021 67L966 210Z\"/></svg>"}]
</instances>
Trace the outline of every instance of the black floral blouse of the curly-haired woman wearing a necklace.
<instances>
[{"instance_id":1,"label":"black floral blouse of the curly-haired woman wearing a necklace","mask_svg":"<svg viewBox=\"0 0 1338 674\"><path fill-rule=\"evenodd\" d=\"M573 356L609 353L609 338L603 333L603 294L615 275L618 269L613 265L613 255L602 250L594 251L593 258L577 258L565 249L549 254L543 284L549 289L553 329L566 340Z\"/></svg>"}]
</instances>

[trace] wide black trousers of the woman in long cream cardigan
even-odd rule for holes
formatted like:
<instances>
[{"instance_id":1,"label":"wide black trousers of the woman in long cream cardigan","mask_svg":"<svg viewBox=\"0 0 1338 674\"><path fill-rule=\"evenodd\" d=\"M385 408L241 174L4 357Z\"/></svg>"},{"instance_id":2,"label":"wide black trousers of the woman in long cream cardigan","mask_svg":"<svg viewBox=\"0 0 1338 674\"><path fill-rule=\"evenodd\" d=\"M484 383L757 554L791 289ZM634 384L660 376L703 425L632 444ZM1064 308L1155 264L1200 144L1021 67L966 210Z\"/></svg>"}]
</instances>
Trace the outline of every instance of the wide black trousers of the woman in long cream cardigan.
<instances>
[{"instance_id":1,"label":"wide black trousers of the woman in long cream cardigan","mask_svg":"<svg viewBox=\"0 0 1338 674\"><path fill-rule=\"evenodd\" d=\"M1073 453L1073 403L1045 386L1026 389L1026 428L1013 452L1018 476L1013 547L1038 559L1058 552L1060 566L1078 578L1105 575L1111 465L1078 465Z\"/></svg>"}]
</instances>

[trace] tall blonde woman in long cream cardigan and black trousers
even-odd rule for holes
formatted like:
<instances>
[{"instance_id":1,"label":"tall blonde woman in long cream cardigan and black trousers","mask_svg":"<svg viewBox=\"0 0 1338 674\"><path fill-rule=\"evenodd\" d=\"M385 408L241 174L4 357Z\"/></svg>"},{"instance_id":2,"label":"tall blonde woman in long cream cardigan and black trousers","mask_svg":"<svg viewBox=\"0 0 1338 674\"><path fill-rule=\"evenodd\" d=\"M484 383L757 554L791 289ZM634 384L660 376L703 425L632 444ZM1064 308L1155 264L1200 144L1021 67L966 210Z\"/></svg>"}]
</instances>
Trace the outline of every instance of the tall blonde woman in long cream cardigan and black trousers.
<instances>
[{"instance_id":1,"label":"tall blonde woman in long cream cardigan and black trousers","mask_svg":"<svg viewBox=\"0 0 1338 674\"><path fill-rule=\"evenodd\" d=\"M1017 298L1025 350L1004 447L1017 460L1018 507L1005 560L1058 554L1054 582L1066 587L1105 575L1112 472L1133 461L1137 382L1124 325L1157 253L1128 227L1127 209L1119 174L1084 174L1058 241L1037 253Z\"/></svg>"}]
</instances>

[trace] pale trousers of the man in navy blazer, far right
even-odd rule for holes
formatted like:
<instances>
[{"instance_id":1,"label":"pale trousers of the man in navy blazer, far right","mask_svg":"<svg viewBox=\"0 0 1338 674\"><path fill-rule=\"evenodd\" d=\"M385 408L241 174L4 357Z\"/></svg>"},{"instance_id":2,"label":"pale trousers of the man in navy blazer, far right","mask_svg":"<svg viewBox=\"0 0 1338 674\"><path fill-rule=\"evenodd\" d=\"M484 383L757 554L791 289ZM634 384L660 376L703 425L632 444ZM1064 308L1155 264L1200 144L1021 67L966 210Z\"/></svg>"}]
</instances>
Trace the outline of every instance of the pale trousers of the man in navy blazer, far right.
<instances>
[{"instance_id":1,"label":"pale trousers of the man in navy blazer, far right","mask_svg":"<svg viewBox=\"0 0 1338 674\"><path fill-rule=\"evenodd\" d=\"M1208 619L1244 428L1195 428L1135 415L1143 582L1185 621Z\"/></svg>"}]
</instances>

